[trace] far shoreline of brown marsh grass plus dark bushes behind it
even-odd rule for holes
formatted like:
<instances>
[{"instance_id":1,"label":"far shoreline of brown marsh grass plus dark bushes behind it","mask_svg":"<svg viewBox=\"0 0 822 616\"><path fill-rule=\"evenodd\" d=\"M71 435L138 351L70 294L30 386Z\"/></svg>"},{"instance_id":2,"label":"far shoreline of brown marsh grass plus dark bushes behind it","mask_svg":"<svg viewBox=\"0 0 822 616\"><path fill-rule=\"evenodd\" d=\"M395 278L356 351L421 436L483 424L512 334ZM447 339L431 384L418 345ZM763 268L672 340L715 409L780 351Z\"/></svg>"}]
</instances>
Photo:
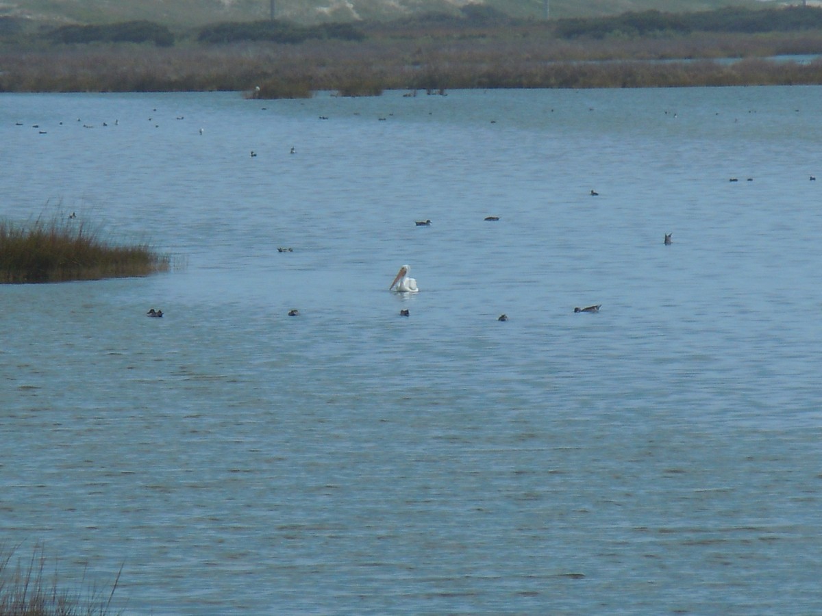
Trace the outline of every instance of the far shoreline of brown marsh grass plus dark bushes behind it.
<instances>
[{"instance_id":1,"label":"far shoreline of brown marsh grass plus dark bushes behind it","mask_svg":"<svg viewBox=\"0 0 822 616\"><path fill-rule=\"evenodd\" d=\"M801 18L798 25L791 17ZM734 20L747 30L727 30ZM822 9L688 16L648 11L552 23L494 15L418 17L313 29L253 22L214 25L176 39L168 33L171 41L154 26L83 26L69 30L68 40L76 41L71 44L62 29L55 30L62 32L59 44L54 35L0 44L0 92L222 90L297 98L320 90L356 96L384 90L822 84L822 61L764 59L822 54ZM91 39L76 38L81 35ZM125 35L133 41L115 41ZM165 42L147 42L151 36Z\"/></svg>"}]
</instances>

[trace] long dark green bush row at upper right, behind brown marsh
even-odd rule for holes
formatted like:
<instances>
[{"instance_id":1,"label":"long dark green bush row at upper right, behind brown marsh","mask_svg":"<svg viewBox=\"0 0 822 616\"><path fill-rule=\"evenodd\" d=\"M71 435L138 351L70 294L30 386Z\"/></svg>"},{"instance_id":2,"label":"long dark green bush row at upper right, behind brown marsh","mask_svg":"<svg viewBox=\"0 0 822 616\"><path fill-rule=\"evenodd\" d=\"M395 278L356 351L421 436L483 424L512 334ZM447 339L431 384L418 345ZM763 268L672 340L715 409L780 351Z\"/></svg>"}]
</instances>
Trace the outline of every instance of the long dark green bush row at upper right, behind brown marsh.
<instances>
[{"instance_id":1,"label":"long dark green bush row at upper right, behind brown marsh","mask_svg":"<svg viewBox=\"0 0 822 616\"><path fill-rule=\"evenodd\" d=\"M784 7L761 10L727 7L717 11L666 13L627 12L614 17L556 21L556 35L563 39L608 36L636 37L691 32L792 32L822 30L822 9Z\"/></svg>"}]
</instances>

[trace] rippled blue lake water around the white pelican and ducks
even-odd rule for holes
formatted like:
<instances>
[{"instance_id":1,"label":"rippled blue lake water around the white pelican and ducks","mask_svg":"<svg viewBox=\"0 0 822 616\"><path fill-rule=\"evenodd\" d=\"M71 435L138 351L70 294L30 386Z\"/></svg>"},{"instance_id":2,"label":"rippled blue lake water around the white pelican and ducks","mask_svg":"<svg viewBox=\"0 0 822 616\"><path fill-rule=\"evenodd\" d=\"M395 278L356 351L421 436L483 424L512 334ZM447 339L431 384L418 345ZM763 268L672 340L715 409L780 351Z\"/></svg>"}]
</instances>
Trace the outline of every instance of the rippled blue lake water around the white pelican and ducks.
<instances>
[{"instance_id":1,"label":"rippled blue lake water around the white pelican and ducks","mask_svg":"<svg viewBox=\"0 0 822 616\"><path fill-rule=\"evenodd\" d=\"M402 94L0 96L3 218L175 263L0 287L0 540L128 614L822 611L822 88Z\"/></svg>"}]
</instances>

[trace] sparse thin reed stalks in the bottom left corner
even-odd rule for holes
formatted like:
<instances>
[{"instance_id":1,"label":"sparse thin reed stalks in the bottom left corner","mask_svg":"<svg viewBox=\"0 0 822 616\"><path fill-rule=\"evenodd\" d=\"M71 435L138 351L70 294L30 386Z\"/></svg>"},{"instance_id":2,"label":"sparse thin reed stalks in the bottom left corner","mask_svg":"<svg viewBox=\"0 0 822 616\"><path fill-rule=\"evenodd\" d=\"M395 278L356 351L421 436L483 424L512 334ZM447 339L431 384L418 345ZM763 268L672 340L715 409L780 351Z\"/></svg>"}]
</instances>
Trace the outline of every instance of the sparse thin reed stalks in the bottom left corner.
<instances>
[{"instance_id":1,"label":"sparse thin reed stalks in the bottom left corner","mask_svg":"<svg viewBox=\"0 0 822 616\"><path fill-rule=\"evenodd\" d=\"M3 616L92 616L109 614L120 572L110 593L101 594L94 586L68 590L58 584L58 574L47 579L47 559L42 546L36 546L30 559L10 566L14 549L0 554L0 614Z\"/></svg>"}]
</instances>

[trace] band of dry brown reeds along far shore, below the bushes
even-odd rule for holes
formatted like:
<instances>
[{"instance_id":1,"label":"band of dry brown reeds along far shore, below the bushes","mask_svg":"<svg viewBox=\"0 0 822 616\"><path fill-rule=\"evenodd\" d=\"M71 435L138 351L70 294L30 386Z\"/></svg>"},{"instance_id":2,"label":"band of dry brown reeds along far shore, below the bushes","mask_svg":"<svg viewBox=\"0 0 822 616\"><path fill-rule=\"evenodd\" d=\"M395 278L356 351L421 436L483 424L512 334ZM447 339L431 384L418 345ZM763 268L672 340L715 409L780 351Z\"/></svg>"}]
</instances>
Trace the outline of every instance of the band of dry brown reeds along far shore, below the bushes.
<instances>
[{"instance_id":1,"label":"band of dry brown reeds along far shore, below the bushes","mask_svg":"<svg viewBox=\"0 0 822 616\"><path fill-rule=\"evenodd\" d=\"M822 83L818 67L808 65L702 62L822 53L822 32L566 40L533 26L515 33L435 34L417 38L372 33L363 41L312 39L301 44L99 45L62 48L59 53L6 52L0 53L0 91L233 90L252 98L302 98L318 90L375 95L441 88ZM656 62L660 60L695 62Z\"/></svg>"}]
</instances>

